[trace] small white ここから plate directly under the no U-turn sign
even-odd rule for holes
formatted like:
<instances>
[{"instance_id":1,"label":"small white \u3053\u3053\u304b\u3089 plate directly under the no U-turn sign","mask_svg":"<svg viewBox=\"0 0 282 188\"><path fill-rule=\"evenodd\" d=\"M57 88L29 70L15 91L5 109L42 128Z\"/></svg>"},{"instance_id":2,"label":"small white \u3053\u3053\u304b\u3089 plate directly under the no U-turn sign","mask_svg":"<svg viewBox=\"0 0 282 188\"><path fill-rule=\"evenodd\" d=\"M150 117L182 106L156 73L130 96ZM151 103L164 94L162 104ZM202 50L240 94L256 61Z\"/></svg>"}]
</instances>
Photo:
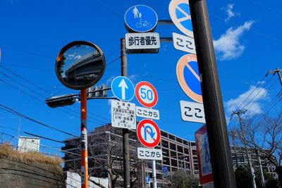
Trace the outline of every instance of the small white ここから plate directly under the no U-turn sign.
<instances>
[{"instance_id":1,"label":"small white \u3053\u3053\u304b\u3089 plate directly under the no U-turn sign","mask_svg":"<svg viewBox=\"0 0 282 188\"><path fill-rule=\"evenodd\" d=\"M163 160L161 149L137 148L137 156L140 159Z\"/></svg>"}]
</instances>

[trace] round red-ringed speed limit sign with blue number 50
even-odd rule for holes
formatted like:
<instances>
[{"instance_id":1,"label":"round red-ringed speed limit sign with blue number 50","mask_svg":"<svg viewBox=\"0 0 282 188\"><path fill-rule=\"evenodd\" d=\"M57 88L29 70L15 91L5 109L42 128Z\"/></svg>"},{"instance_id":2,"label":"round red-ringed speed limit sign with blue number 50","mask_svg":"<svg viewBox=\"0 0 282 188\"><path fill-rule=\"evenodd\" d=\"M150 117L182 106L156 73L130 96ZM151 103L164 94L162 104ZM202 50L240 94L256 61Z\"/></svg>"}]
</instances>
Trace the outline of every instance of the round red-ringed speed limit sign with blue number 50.
<instances>
[{"instance_id":1,"label":"round red-ringed speed limit sign with blue number 50","mask_svg":"<svg viewBox=\"0 0 282 188\"><path fill-rule=\"evenodd\" d=\"M137 101L147 108L152 108L157 104L158 94L157 90L149 82L139 82L135 87L135 96Z\"/></svg>"}]
</instances>

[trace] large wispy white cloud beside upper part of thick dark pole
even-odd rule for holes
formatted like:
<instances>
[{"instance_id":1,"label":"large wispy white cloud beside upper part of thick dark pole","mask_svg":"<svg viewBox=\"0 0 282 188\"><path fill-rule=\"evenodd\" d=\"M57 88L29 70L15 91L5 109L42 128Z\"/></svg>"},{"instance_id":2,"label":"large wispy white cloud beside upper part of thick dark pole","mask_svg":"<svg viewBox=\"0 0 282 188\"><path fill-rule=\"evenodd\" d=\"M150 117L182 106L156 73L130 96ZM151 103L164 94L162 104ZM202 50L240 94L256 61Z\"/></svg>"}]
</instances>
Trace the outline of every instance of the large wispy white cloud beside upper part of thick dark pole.
<instances>
[{"instance_id":1,"label":"large wispy white cloud beside upper part of thick dark pole","mask_svg":"<svg viewBox=\"0 0 282 188\"><path fill-rule=\"evenodd\" d=\"M240 44L240 37L250 30L254 21L250 20L237 28L230 27L225 34L214 40L214 49L221 60L237 58L242 55L245 46Z\"/></svg>"}]
</instances>

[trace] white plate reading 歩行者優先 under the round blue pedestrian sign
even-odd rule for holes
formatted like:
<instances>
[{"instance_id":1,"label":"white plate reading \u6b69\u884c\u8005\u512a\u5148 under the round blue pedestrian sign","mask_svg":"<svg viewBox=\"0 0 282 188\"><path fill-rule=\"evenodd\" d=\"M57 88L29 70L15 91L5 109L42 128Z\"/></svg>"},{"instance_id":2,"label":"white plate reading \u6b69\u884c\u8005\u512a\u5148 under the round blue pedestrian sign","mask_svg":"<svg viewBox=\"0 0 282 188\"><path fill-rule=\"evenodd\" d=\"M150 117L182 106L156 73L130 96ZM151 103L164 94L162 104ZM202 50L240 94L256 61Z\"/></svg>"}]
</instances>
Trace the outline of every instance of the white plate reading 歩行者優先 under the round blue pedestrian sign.
<instances>
[{"instance_id":1,"label":"white plate reading \u6b69\u884c\u8005\u512a\u5148 under the round blue pedestrian sign","mask_svg":"<svg viewBox=\"0 0 282 188\"><path fill-rule=\"evenodd\" d=\"M126 49L159 49L160 40L157 32L137 32L125 34Z\"/></svg>"}]
</instances>

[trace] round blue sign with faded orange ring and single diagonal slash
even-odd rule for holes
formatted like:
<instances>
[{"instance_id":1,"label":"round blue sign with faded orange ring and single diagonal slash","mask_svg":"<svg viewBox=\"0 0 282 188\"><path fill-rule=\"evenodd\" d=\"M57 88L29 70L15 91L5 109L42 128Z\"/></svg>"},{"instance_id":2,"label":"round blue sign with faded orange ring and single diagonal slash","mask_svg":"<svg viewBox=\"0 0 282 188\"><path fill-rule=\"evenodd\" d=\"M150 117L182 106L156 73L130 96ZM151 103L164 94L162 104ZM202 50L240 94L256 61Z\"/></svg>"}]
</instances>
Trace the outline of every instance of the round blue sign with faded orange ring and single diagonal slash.
<instances>
[{"instance_id":1,"label":"round blue sign with faded orange ring and single diagonal slash","mask_svg":"<svg viewBox=\"0 0 282 188\"><path fill-rule=\"evenodd\" d=\"M197 56L182 56L176 66L176 75L180 87L192 100L202 103L201 78L199 75Z\"/></svg>"}]
</instances>

